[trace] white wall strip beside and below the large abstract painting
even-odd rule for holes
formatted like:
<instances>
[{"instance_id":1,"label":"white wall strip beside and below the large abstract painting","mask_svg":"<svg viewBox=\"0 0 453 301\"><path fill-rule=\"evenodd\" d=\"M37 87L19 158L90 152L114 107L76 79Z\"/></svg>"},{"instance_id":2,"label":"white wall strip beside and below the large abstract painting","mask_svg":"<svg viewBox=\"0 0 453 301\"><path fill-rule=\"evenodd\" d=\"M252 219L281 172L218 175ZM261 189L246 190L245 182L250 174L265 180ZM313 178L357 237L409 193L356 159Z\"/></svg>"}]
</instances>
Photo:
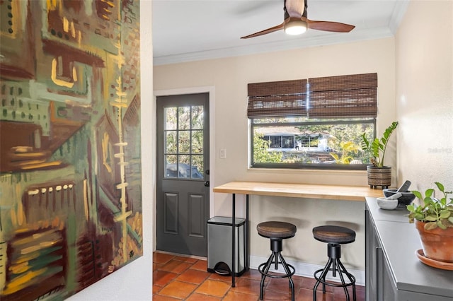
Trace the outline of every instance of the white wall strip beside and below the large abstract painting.
<instances>
[{"instance_id":1,"label":"white wall strip beside and below the large abstract painting","mask_svg":"<svg viewBox=\"0 0 453 301\"><path fill-rule=\"evenodd\" d=\"M145 13L146 12L146 13ZM144 255L115 271L111 275L94 283L76 295L69 297L71 301L142 301L151 300L152 296L152 239L155 196L155 135L154 102L153 100L153 60L151 39L151 1L140 2L140 52L141 56L141 114L142 114L142 201L143 201L143 246ZM144 55L146 54L146 55Z\"/></svg>"}]
</instances>

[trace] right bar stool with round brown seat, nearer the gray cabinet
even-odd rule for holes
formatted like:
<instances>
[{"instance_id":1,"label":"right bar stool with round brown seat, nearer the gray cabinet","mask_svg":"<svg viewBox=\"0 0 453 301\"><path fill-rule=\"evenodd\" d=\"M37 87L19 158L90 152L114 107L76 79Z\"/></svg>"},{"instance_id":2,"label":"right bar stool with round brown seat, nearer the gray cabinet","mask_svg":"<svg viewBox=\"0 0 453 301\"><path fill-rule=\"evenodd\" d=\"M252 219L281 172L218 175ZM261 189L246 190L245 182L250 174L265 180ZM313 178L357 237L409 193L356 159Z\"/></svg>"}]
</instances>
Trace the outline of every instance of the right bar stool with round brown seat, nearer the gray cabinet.
<instances>
[{"instance_id":1,"label":"right bar stool with round brown seat, nearer the gray cabinet","mask_svg":"<svg viewBox=\"0 0 453 301\"><path fill-rule=\"evenodd\" d=\"M316 301L316 288L318 288L319 283L323 284L323 293L326 293L326 285L343 288L346 294L346 300L349 301L349 292L348 286L352 285L352 300L355 299L355 277L346 271L345 266L340 261L341 256L341 246L340 244L349 244L350 242L355 241L355 231L349 228L340 227L336 225L322 225L319 227L313 228L313 237L320 242L327 242L327 256L328 261L324 268L319 269L314 272L314 278L316 279L316 284L313 288L313 300ZM332 271L332 276L340 276L341 283L331 283L326 282L326 275L328 271ZM319 273L321 275L319 276ZM349 282L345 282L345 275L348 277Z\"/></svg>"}]
</instances>

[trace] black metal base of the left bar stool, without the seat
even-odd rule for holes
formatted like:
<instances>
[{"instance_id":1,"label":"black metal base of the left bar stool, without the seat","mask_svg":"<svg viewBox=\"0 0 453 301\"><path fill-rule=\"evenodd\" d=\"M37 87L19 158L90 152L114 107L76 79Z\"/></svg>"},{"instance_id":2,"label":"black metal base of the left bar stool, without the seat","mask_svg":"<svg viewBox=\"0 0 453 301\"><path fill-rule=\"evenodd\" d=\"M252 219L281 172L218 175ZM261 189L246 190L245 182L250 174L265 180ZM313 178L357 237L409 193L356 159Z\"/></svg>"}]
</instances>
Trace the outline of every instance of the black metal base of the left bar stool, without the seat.
<instances>
[{"instance_id":1,"label":"black metal base of the left bar stool, without the seat","mask_svg":"<svg viewBox=\"0 0 453 301\"><path fill-rule=\"evenodd\" d=\"M272 264L275 265L275 269L278 268L278 264L281 264L285 269L285 274L276 275L269 273L269 268ZM268 261L258 266L258 271L261 273L260 300L263 300L265 278L270 277L270 278L288 278L289 288L291 288L291 300L294 301L294 282L292 281L292 276L296 272L296 269L291 264L286 263L285 259L283 259L283 256L280 252L272 252L272 255L270 255Z\"/></svg>"}]
</instances>

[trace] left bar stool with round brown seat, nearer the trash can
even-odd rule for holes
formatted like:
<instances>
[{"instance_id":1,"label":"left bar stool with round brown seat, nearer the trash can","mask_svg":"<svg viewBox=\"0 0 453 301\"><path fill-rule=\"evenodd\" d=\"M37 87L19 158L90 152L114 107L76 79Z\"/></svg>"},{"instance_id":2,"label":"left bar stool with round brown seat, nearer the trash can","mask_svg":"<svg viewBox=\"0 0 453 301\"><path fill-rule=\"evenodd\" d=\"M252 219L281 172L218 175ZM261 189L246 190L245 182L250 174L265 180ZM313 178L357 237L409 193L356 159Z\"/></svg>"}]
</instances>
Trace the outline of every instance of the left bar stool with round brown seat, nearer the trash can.
<instances>
[{"instance_id":1,"label":"left bar stool with round brown seat, nearer the trash can","mask_svg":"<svg viewBox=\"0 0 453 301\"><path fill-rule=\"evenodd\" d=\"M270 221L259 223L256 226L256 230L258 230L260 236L270 239L270 250L272 251L268 261L258 266L258 271L261 273L260 300L263 300L265 278L270 277L288 278L289 288L291 288L291 300L294 301L294 282L291 277L294 275L296 269L294 266L286 263L281 252L283 249L282 241L286 238L294 237L297 230L296 226L291 223ZM275 270L278 269L278 264L282 264L285 274L276 275L275 273L269 273L269 268L272 264L275 264Z\"/></svg>"}]
</instances>

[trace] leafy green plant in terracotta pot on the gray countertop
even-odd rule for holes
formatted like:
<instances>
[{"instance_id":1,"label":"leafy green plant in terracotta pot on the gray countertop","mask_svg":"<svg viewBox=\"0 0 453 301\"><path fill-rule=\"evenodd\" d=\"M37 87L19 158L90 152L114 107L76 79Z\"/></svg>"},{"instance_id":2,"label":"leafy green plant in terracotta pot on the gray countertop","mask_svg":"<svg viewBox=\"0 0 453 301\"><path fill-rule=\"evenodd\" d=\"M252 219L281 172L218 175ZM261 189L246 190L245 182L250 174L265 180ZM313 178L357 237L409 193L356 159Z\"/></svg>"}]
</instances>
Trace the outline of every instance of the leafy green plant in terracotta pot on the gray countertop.
<instances>
[{"instance_id":1,"label":"leafy green plant in terracotta pot on the gray countertop","mask_svg":"<svg viewBox=\"0 0 453 301\"><path fill-rule=\"evenodd\" d=\"M422 242L423 253L435 261L453 263L453 199L440 182L435 182L442 193L442 199L435 198L435 190L430 188L423 196L419 191L412 193L420 204L407 206L409 223L415 223Z\"/></svg>"}]
</instances>

